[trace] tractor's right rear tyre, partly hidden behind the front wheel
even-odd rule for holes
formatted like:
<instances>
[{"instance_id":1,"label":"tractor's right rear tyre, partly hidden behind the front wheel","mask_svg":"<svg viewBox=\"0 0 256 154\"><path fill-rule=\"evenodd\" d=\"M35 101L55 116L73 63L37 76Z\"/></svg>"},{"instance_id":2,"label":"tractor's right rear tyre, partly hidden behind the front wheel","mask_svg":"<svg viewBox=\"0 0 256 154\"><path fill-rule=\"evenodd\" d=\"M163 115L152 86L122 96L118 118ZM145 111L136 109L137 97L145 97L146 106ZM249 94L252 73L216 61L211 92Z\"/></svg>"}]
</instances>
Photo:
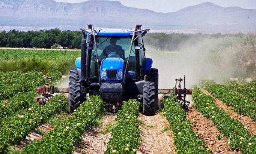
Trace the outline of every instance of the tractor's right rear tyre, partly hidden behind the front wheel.
<instances>
[{"instance_id":1,"label":"tractor's right rear tyre, partly hidden behind the front wheel","mask_svg":"<svg viewBox=\"0 0 256 154\"><path fill-rule=\"evenodd\" d=\"M159 109L158 106L158 69L151 68L148 80L155 83L155 111Z\"/></svg>"}]
</instances>

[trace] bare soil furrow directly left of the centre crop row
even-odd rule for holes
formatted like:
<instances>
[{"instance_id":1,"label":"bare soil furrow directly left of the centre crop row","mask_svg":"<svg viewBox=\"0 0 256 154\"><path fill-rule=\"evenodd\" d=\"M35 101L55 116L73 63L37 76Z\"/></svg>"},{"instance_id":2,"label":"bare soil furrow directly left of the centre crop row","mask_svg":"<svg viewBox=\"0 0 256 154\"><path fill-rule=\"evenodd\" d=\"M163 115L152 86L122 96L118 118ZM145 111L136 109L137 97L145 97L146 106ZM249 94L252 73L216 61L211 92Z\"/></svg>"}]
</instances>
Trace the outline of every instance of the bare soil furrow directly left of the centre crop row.
<instances>
[{"instance_id":1,"label":"bare soil furrow directly left of the centre crop row","mask_svg":"<svg viewBox=\"0 0 256 154\"><path fill-rule=\"evenodd\" d=\"M75 148L73 154L104 154L107 142L111 137L111 132L102 133L102 131L106 130L107 124L114 124L115 118L116 115L105 115L102 118L101 126L94 127L92 130L84 133L79 147Z\"/></svg>"}]
</instances>

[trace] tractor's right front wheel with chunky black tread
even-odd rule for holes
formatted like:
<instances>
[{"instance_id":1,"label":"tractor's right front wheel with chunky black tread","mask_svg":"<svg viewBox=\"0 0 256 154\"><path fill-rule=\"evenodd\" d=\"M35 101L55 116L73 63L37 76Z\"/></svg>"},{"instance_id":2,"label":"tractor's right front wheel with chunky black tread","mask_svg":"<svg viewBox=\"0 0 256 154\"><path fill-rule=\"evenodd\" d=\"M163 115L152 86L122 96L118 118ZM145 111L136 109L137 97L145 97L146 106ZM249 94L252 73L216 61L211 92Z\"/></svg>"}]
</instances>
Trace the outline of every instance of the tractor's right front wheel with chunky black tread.
<instances>
[{"instance_id":1,"label":"tractor's right front wheel with chunky black tread","mask_svg":"<svg viewBox=\"0 0 256 154\"><path fill-rule=\"evenodd\" d=\"M145 81L143 85L143 114L155 114L155 84Z\"/></svg>"}]
</instances>

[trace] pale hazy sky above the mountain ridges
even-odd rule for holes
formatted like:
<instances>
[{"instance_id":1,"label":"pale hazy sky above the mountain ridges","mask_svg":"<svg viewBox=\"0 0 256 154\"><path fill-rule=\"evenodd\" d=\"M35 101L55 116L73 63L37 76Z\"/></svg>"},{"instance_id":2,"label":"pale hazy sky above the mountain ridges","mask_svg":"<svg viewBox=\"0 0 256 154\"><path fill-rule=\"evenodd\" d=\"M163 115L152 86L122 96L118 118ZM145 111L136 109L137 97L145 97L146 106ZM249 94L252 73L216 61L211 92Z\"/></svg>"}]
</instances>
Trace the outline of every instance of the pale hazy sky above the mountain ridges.
<instances>
[{"instance_id":1,"label":"pale hazy sky above the mountain ridges","mask_svg":"<svg viewBox=\"0 0 256 154\"><path fill-rule=\"evenodd\" d=\"M58 2L78 3L87 0L55 0ZM246 9L256 9L256 0L118 0L124 6L149 9L155 12L175 12L187 6L203 2L212 2L223 7L239 6Z\"/></svg>"}]
</instances>

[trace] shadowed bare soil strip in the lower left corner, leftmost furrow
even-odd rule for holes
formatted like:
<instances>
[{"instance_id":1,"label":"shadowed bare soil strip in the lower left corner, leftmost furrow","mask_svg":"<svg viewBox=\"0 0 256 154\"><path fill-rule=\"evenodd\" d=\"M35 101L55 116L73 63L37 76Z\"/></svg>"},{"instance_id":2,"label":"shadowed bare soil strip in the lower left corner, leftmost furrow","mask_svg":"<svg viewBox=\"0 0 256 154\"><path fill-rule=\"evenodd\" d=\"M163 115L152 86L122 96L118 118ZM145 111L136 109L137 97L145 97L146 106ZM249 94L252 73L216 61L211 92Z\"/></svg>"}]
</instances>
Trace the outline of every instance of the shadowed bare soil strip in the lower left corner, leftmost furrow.
<instances>
[{"instance_id":1,"label":"shadowed bare soil strip in the lower left corner, leftmost furrow","mask_svg":"<svg viewBox=\"0 0 256 154\"><path fill-rule=\"evenodd\" d=\"M47 134L50 131L54 131L54 129L48 125L48 124L43 124L42 126L39 126L38 129L42 130L42 134L39 134L38 132L31 132L26 139L22 140L20 144L14 145L14 147L18 149L22 149L26 147L31 141L41 139L45 134Z\"/></svg>"}]
</instances>

